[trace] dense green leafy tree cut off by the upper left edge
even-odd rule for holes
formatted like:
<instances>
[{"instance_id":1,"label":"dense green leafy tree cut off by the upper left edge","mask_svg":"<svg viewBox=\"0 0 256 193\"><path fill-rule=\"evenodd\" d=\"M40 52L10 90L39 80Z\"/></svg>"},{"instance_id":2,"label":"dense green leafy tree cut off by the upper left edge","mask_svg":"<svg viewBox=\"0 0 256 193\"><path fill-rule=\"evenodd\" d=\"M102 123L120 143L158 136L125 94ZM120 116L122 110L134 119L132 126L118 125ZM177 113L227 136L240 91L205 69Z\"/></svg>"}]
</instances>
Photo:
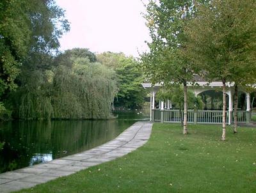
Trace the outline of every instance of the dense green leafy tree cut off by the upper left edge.
<instances>
[{"instance_id":1,"label":"dense green leafy tree cut off by the upper left edge","mask_svg":"<svg viewBox=\"0 0 256 193\"><path fill-rule=\"evenodd\" d=\"M0 100L6 91L17 88L21 59L28 52L31 36L27 1L0 2Z\"/></svg>"}]
</instances>

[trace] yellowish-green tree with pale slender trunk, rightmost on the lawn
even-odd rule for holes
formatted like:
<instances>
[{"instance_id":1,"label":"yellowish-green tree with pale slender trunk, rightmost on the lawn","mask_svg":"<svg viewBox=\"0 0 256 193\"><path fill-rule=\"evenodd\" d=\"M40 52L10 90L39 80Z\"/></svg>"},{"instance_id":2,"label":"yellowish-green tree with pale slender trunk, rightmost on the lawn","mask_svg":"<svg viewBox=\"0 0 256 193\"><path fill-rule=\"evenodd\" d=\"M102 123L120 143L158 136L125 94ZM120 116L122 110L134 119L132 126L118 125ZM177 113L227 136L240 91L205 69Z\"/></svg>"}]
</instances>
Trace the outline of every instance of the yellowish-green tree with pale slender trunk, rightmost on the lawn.
<instances>
[{"instance_id":1,"label":"yellowish-green tree with pale slender trunk, rightmost on the lawn","mask_svg":"<svg viewBox=\"0 0 256 193\"><path fill-rule=\"evenodd\" d=\"M196 17L186 27L188 39L185 53L189 60L193 61L193 65L202 68L206 79L222 81L221 139L225 140L226 83L234 80L234 68L246 68L256 62L256 4L253 0L210 2L207 6L196 4ZM242 76L241 73L239 77Z\"/></svg>"}]
</instances>

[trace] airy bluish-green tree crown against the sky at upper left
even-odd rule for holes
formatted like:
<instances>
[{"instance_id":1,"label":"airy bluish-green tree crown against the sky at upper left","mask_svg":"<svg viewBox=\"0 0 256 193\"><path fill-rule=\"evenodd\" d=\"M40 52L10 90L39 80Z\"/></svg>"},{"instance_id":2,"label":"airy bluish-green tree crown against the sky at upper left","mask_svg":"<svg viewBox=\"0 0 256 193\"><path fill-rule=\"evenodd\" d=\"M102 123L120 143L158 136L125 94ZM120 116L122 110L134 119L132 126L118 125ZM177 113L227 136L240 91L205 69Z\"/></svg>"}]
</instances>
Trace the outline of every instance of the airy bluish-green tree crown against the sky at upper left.
<instances>
[{"instance_id":1,"label":"airy bluish-green tree crown against the sky at upper left","mask_svg":"<svg viewBox=\"0 0 256 193\"><path fill-rule=\"evenodd\" d=\"M30 0L31 47L30 53L50 53L60 47L59 38L69 30L65 12L56 5L55 0Z\"/></svg>"}]
</instances>

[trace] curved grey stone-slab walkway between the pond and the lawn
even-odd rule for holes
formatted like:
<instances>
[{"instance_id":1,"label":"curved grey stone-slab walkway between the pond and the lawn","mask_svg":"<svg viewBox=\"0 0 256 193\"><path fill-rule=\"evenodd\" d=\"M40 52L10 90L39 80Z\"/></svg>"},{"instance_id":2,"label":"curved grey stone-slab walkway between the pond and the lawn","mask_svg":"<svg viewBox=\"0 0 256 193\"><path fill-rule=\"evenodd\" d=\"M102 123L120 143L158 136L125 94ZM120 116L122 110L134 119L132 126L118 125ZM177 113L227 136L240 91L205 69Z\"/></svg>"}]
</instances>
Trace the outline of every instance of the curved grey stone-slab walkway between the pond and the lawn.
<instances>
[{"instance_id":1,"label":"curved grey stone-slab walkway between the pond and the lawn","mask_svg":"<svg viewBox=\"0 0 256 193\"><path fill-rule=\"evenodd\" d=\"M0 174L0 192L30 188L122 157L145 144L150 137L151 128L152 123L139 121L127 128L116 139L92 150Z\"/></svg>"}]
</instances>

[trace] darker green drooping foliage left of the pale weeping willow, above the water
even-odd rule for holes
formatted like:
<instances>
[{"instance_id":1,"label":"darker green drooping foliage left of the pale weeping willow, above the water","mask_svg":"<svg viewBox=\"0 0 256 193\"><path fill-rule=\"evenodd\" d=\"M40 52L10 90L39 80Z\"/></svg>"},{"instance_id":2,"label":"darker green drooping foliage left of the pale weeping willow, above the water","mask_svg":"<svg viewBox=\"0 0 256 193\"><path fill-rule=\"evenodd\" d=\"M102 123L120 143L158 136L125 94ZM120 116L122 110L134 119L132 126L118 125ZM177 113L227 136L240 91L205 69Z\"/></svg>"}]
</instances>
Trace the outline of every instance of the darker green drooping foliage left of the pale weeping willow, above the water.
<instances>
[{"instance_id":1,"label":"darker green drooping foliage left of the pale weeping willow, above the water","mask_svg":"<svg viewBox=\"0 0 256 193\"><path fill-rule=\"evenodd\" d=\"M51 76L51 77L49 77ZM50 70L22 70L20 86L11 95L15 118L35 120L52 118L51 104L53 72Z\"/></svg>"}]
</instances>

